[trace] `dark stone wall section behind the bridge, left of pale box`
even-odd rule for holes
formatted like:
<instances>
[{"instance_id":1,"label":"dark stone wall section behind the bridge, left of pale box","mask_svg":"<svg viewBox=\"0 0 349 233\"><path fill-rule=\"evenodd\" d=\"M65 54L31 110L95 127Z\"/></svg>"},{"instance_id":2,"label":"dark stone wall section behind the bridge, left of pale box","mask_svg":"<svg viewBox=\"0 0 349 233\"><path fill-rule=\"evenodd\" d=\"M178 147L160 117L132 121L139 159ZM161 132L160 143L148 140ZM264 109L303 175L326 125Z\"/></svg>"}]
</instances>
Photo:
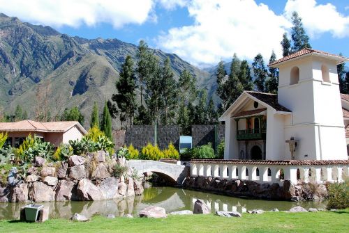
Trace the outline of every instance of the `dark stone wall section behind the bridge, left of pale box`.
<instances>
[{"instance_id":1,"label":"dark stone wall section behind the bridge, left of pale box","mask_svg":"<svg viewBox=\"0 0 349 233\"><path fill-rule=\"evenodd\" d=\"M157 143L163 150L168 144L173 143L178 150L180 129L178 125L133 125L126 131L124 144L128 146L132 143L140 150L147 143Z\"/></svg>"}]
</instances>

